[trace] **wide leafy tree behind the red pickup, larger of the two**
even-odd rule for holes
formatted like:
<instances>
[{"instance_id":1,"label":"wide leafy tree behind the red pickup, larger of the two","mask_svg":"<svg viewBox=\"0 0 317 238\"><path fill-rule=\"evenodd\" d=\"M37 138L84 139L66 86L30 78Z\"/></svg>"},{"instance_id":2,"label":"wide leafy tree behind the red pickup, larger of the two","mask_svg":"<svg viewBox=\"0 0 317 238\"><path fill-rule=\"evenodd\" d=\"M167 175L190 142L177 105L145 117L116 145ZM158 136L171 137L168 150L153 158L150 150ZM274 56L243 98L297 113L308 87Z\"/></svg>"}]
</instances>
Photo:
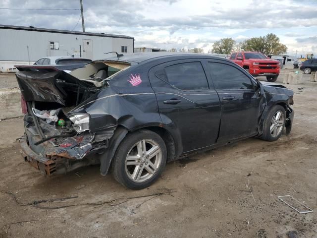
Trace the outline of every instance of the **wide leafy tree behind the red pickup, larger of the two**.
<instances>
[{"instance_id":1,"label":"wide leafy tree behind the red pickup, larger of the two","mask_svg":"<svg viewBox=\"0 0 317 238\"><path fill-rule=\"evenodd\" d=\"M242 51L262 52L265 55L280 55L287 51L287 47L272 33L240 42L238 48Z\"/></svg>"}]
</instances>

